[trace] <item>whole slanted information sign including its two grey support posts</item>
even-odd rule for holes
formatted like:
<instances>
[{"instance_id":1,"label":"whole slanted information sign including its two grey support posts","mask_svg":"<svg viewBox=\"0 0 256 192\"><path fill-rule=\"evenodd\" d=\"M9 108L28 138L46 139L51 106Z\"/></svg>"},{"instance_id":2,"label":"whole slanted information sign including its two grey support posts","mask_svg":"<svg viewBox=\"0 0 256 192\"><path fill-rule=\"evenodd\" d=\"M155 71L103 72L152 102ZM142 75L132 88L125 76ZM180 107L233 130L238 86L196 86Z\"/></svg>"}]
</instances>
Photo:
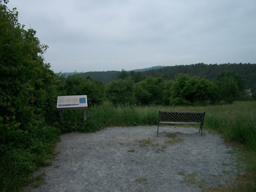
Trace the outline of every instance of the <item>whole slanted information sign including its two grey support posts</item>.
<instances>
[{"instance_id":1,"label":"whole slanted information sign including its two grey support posts","mask_svg":"<svg viewBox=\"0 0 256 192\"><path fill-rule=\"evenodd\" d=\"M84 110L84 121L86 117L87 95L72 95L72 96L58 96L57 110L59 111L60 118L63 117L63 110Z\"/></svg>"}]
</instances>

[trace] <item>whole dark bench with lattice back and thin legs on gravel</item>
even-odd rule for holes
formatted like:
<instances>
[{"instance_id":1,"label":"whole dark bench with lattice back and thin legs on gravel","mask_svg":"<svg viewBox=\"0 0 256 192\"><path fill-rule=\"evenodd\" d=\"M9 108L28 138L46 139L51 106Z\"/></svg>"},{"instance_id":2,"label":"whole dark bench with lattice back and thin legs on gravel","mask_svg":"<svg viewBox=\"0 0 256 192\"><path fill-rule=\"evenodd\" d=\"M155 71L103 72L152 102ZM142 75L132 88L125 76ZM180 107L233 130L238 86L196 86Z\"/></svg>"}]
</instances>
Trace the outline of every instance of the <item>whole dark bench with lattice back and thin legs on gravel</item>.
<instances>
[{"instance_id":1,"label":"whole dark bench with lattice back and thin legs on gravel","mask_svg":"<svg viewBox=\"0 0 256 192\"><path fill-rule=\"evenodd\" d=\"M199 133L203 133L205 112L177 112L177 111L159 111L157 137L159 123L168 124L200 124Z\"/></svg>"}]
</instances>

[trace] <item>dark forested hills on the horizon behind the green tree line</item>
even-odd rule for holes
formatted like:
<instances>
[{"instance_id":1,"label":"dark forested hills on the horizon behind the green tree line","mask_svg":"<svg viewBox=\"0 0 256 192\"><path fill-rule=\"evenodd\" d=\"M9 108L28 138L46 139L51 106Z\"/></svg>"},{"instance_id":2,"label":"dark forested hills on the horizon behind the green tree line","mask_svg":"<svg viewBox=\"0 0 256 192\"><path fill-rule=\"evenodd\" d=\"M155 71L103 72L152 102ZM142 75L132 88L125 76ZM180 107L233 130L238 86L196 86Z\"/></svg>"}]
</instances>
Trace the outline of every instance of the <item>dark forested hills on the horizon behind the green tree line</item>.
<instances>
[{"instance_id":1,"label":"dark forested hills on the horizon behind the green tree line","mask_svg":"<svg viewBox=\"0 0 256 192\"><path fill-rule=\"evenodd\" d=\"M133 70L135 75L142 80L145 76L163 77L164 79L174 79L179 73L189 74L190 76L197 75L206 77L207 79L216 79L223 71L234 71L243 76L247 80L248 86L256 83L256 64L251 63L226 63L226 64L204 64L197 63L191 65L176 65L176 66L158 66L157 69L149 69L145 71ZM128 76L132 75L132 71L126 72ZM82 76L91 76L93 79L98 79L107 84L111 80L119 78L121 71L95 71L80 73Z\"/></svg>"}]
</instances>

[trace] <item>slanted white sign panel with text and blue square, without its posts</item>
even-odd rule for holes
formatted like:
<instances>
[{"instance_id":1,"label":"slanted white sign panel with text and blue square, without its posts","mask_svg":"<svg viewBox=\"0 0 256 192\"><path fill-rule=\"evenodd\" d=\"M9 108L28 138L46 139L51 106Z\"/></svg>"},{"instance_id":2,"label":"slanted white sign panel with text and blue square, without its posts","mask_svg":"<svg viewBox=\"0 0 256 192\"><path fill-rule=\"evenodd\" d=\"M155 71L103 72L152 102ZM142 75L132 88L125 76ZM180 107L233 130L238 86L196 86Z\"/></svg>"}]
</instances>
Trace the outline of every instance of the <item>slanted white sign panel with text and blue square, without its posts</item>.
<instances>
[{"instance_id":1,"label":"slanted white sign panel with text and blue square, without its posts","mask_svg":"<svg viewBox=\"0 0 256 192\"><path fill-rule=\"evenodd\" d=\"M87 108L86 95L58 96L57 108L66 110L68 108Z\"/></svg>"}]
</instances>

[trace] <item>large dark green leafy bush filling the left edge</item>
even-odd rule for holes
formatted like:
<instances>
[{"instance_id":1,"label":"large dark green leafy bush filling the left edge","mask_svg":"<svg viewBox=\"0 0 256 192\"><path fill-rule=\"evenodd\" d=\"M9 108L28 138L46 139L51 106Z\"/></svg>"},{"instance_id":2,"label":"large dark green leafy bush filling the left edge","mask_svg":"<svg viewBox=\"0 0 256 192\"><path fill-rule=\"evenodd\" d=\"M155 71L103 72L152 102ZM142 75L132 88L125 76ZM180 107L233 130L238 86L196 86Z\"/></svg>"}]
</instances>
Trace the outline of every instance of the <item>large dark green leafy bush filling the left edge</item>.
<instances>
[{"instance_id":1,"label":"large dark green leafy bush filling the left edge","mask_svg":"<svg viewBox=\"0 0 256 192\"><path fill-rule=\"evenodd\" d=\"M5 2L0 1L0 186L13 191L20 186L17 178L45 164L57 138L58 130L45 122L54 114L57 76L44 63L47 45L18 23L18 12Z\"/></svg>"}]
</instances>

